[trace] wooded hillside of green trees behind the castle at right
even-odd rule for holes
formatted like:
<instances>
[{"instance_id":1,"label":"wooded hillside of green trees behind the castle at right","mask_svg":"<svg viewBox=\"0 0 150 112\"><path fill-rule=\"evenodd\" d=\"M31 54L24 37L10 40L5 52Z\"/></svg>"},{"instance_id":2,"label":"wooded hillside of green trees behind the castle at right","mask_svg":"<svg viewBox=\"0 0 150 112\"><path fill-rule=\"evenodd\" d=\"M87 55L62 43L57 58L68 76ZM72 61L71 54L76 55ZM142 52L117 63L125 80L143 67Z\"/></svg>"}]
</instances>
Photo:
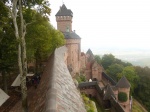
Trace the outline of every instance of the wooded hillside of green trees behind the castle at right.
<instances>
[{"instance_id":1,"label":"wooded hillside of green trees behind the castle at right","mask_svg":"<svg viewBox=\"0 0 150 112\"><path fill-rule=\"evenodd\" d=\"M95 55L97 62L103 66L105 72L116 82L126 76L131 84L130 94L150 111L150 68L133 66L129 62L123 62L112 54L102 57Z\"/></svg>"}]
</instances>

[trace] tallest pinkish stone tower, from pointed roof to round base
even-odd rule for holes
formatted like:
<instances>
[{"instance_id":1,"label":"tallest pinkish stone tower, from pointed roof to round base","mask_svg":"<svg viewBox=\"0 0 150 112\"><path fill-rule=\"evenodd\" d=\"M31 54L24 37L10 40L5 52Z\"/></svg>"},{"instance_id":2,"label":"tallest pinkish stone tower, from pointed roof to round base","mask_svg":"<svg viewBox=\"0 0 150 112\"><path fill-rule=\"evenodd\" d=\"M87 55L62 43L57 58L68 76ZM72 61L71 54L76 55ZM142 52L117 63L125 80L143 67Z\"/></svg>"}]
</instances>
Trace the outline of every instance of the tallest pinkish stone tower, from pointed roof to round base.
<instances>
[{"instance_id":1,"label":"tallest pinkish stone tower, from pointed roof to round base","mask_svg":"<svg viewBox=\"0 0 150 112\"><path fill-rule=\"evenodd\" d=\"M64 34L66 40L66 47L68 49L67 66L71 74L74 75L80 71L81 38L75 31L72 31L73 13L63 4L55 16L57 29Z\"/></svg>"}]
</instances>

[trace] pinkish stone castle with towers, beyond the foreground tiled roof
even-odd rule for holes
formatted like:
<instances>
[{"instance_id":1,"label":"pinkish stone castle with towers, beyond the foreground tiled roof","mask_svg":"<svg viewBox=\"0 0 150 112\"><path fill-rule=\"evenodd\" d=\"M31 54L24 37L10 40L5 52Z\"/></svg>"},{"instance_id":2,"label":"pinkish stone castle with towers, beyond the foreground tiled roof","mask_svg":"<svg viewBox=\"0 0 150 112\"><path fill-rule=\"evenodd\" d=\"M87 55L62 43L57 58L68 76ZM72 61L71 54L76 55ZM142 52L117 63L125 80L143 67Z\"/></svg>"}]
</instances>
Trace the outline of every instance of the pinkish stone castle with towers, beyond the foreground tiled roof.
<instances>
[{"instance_id":1,"label":"pinkish stone castle with towers, beyond the foreground tiled roof","mask_svg":"<svg viewBox=\"0 0 150 112\"><path fill-rule=\"evenodd\" d=\"M57 29L65 37L68 51L65 53L65 62L71 75L80 71L85 74L89 82L79 84L82 93L90 97L96 97L104 108L110 108L112 112L130 112L132 110L132 98L129 96L130 83L126 77L122 77L118 83L104 73L103 67L99 65L92 51L81 53L81 38L72 31L73 12L63 4L56 14ZM127 95L126 101L119 100L119 94Z\"/></svg>"}]
</instances>

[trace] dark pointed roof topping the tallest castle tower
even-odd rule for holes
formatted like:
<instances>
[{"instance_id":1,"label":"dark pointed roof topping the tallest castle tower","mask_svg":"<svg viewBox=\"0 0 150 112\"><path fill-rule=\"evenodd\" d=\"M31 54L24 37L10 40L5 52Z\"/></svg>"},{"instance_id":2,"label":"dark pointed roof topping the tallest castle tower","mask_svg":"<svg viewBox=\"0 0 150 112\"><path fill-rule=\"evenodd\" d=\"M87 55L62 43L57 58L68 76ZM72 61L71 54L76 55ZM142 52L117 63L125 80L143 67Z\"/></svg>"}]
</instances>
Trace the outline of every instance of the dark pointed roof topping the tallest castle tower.
<instances>
[{"instance_id":1,"label":"dark pointed roof topping the tallest castle tower","mask_svg":"<svg viewBox=\"0 0 150 112\"><path fill-rule=\"evenodd\" d=\"M55 16L71 16L71 17L73 17L73 12L70 9L67 9L65 4L63 4Z\"/></svg>"}]
</instances>

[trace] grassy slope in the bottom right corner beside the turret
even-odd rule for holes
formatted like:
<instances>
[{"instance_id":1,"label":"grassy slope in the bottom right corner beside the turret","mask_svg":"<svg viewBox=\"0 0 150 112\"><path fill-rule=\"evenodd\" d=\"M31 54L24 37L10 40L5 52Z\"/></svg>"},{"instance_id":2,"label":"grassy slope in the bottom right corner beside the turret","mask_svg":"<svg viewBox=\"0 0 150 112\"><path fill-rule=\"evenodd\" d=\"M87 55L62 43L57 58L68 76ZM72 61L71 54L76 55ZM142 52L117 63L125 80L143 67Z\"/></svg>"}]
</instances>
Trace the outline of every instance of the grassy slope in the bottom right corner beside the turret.
<instances>
[{"instance_id":1,"label":"grassy slope in the bottom right corner beside the turret","mask_svg":"<svg viewBox=\"0 0 150 112\"><path fill-rule=\"evenodd\" d=\"M146 109L135 99L133 99L132 112L148 112Z\"/></svg>"}]
</instances>

